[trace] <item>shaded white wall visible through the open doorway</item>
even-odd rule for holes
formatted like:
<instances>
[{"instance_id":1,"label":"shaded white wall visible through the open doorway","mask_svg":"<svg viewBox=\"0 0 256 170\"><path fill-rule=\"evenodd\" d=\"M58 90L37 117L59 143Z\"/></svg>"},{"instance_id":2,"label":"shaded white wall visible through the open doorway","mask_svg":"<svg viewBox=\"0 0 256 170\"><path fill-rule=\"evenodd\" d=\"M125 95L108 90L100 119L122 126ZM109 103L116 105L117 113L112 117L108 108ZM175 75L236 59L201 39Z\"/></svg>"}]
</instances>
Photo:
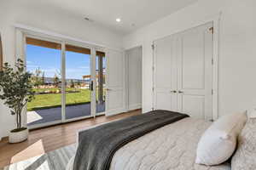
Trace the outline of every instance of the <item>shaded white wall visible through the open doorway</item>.
<instances>
[{"instance_id":1,"label":"shaded white wall visible through the open doorway","mask_svg":"<svg viewBox=\"0 0 256 170\"><path fill-rule=\"evenodd\" d=\"M142 107L142 59L143 48L131 48L125 51L127 58L127 106L128 111Z\"/></svg>"}]
</instances>

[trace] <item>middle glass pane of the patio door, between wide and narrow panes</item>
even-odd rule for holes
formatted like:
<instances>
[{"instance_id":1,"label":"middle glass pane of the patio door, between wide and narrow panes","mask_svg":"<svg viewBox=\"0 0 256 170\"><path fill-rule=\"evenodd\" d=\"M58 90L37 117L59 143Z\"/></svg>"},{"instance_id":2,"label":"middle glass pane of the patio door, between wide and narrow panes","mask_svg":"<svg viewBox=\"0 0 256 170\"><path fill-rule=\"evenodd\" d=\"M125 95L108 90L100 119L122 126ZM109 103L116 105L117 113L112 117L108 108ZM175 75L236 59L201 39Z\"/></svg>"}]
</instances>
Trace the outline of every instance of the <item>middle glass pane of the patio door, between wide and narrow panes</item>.
<instances>
[{"instance_id":1,"label":"middle glass pane of the patio door, between wide and narrow panes","mask_svg":"<svg viewBox=\"0 0 256 170\"><path fill-rule=\"evenodd\" d=\"M90 48L66 45L66 119L91 116Z\"/></svg>"}]
</instances>

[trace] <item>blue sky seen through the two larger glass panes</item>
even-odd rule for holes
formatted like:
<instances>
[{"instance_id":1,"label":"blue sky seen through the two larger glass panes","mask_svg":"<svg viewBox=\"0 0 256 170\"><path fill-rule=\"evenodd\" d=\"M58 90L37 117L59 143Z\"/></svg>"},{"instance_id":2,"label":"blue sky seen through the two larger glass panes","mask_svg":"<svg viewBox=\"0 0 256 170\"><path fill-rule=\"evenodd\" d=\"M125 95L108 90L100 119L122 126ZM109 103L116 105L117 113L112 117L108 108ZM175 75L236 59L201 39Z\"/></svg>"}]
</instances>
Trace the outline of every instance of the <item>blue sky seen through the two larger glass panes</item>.
<instances>
[{"instance_id":1,"label":"blue sky seen through the two larger glass panes","mask_svg":"<svg viewBox=\"0 0 256 170\"><path fill-rule=\"evenodd\" d=\"M61 77L61 50L27 44L26 70L37 68L44 71L44 77ZM90 54L66 52L66 78L83 79L84 75L90 75Z\"/></svg>"}]
</instances>

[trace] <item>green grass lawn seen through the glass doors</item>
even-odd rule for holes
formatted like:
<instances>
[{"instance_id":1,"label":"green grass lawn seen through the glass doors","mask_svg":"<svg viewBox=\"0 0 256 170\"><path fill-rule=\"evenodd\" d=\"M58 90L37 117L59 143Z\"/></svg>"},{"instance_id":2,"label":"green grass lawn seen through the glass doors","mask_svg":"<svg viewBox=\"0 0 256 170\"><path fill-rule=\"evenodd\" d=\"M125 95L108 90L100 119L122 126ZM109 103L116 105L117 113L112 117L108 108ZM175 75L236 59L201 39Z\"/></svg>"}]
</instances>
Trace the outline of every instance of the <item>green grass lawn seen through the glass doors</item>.
<instances>
[{"instance_id":1,"label":"green grass lawn seen through the glass doors","mask_svg":"<svg viewBox=\"0 0 256 170\"><path fill-rule=\"evenodd\" d=\"M35 89L36 92L43 92L45 90L56 91L57 89ZM79 93L66 94L66 105L79 105L90 102L89 89L67 88L68 90L78 90ZM59 106L61 106L61 94L37 94L35 99L27 104L27 111Z\"/></svg>"}]
</instances>

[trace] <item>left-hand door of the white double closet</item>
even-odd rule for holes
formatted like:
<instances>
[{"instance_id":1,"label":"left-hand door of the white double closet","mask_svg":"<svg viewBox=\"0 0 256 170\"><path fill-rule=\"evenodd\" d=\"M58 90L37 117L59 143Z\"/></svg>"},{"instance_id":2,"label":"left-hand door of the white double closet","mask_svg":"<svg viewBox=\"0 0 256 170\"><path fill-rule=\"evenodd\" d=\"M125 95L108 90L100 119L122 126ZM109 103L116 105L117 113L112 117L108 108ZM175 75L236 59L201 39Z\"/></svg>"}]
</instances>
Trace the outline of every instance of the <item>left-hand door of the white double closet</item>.
<instances>
[{"instance_id":1,"label":"left-hand door of the white double closet","mask_svg":"<svg viewBox=\"0 0 256 170\"><path fill-rule=\"evenodd\" d=\"M154 110L177 111L177 57L173 37L154 42Z\"/></svg>"}]
</instances>

